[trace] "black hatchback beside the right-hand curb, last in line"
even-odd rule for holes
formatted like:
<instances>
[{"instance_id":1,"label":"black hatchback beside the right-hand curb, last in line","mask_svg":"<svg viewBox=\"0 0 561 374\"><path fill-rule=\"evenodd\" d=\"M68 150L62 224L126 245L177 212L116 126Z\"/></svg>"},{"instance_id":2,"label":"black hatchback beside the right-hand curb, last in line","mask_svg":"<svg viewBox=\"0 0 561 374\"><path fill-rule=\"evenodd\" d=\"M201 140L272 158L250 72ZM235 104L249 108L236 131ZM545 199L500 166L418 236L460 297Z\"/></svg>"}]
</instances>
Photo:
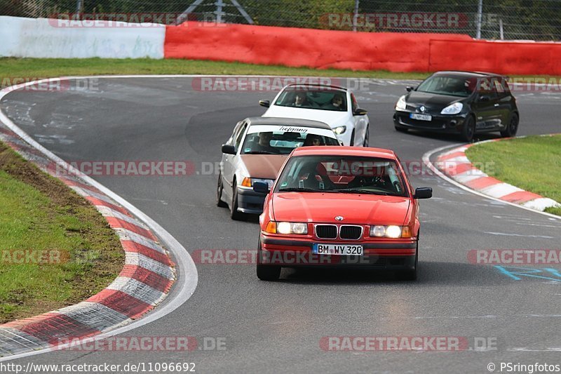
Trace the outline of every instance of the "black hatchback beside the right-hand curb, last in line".
<instances>
[{"instance_id":1,"label":"black hatchback beside the right-hand curb, last in line","mask_svg":"<svg viewBox=\"0 0 561 374\"><path fill-rule=\"evenodd\" d=\"M480 72L437 72L399 98L393 123L397 131L417 129L459 133L499 131L512 137L520 115L506 76Z\"/></svg>"}]
</instances>

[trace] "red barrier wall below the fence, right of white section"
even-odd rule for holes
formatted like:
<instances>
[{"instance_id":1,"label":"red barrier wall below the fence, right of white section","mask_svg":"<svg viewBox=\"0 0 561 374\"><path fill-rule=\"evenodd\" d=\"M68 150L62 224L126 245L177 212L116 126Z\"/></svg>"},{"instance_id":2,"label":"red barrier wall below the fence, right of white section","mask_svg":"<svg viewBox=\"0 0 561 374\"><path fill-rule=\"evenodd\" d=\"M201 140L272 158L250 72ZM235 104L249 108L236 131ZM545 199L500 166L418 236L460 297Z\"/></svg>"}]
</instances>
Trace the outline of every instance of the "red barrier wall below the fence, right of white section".
<instances>
[{"instance_id":1,"label":"red barrier wall below the fence, right of white section","mask_svg":"<svg viewBox=\"0 0 561 374\"><path fill-rule=\"evenodd\" d=\"M165 58L325 69L561 74L561 44L478 41L461 34L345 32L185 22L168 26Z\"/></svg>"}]
</instances>

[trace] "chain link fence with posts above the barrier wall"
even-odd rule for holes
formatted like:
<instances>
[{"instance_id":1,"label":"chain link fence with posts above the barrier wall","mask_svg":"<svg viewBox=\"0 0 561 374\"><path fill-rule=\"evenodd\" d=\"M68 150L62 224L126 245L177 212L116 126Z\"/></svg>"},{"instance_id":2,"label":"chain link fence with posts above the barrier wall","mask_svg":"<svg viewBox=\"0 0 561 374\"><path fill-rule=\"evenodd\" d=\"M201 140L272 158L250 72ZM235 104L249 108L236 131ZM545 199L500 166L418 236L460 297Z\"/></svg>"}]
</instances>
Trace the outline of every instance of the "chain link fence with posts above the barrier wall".
<instances>
[{"instance_id":1,"label":"chain link fence with posts above the barrier wall","mask_svg":"<svg viewBox=\"0 0 561 374\"><path fill-rule=\"evenodd\" d=\"M340 29L447 32L482 39L561 40L561 0L0 0L0 15L58 18L113 13L182 20ZM134 18L133 18L134 19Z\"/></svg>"}]
</instances>

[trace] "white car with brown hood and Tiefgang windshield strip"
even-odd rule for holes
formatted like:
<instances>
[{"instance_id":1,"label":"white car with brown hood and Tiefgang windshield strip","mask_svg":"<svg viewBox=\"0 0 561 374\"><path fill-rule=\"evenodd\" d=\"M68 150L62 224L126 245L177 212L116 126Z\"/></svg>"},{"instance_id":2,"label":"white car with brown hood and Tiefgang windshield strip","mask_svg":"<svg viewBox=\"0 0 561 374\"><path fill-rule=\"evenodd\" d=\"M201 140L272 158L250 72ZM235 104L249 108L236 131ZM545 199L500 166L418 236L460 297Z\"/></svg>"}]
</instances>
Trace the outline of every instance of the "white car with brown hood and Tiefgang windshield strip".
<instances>
[{"instance_id":1,"label":"white car with brown hood and Tiefgang windshield strip","mask_svg":"<svg viewBox=\"0 0 561 374\"><path fill-rule=\"evenodd\" d=\"M255 192L253 183L271 187L292 149L323 145L339 146L337 135L325 123L272 117L239 121L222 145L217 206L228 206L233 220L261 214L266 194Z\"/></svg>"}]
</instances>

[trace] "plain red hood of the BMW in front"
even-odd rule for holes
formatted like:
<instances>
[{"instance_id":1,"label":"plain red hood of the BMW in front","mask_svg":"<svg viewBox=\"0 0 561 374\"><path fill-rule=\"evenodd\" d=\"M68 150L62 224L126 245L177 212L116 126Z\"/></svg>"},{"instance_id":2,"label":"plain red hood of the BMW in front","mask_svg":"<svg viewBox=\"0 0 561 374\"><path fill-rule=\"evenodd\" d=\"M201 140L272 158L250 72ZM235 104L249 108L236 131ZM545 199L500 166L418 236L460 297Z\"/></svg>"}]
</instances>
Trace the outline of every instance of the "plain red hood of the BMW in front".
<instances>
[{"instance_id":1,"label":"plain red hood of the BMW in front","mask_svg":"<svg viewBox=\"0 0 561 374\"><path fill-rule=\"evenodd\" d=\"M400 196L277 192L273 214L276 221L403 225L409 204ZM344 220L335 220L337 215Z\"/></svg>"}]
</instances>

